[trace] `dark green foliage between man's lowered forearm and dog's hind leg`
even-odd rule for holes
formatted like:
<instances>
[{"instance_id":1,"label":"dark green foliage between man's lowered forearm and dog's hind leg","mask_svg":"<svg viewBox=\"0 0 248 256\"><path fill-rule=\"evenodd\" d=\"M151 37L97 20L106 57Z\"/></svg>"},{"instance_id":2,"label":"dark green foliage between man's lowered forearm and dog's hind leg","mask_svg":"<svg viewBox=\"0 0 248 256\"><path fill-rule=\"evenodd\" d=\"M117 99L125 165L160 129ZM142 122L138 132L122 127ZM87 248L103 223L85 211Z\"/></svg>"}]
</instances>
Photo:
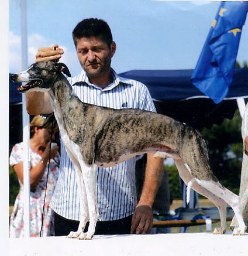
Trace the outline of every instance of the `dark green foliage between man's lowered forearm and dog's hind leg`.
<instances>
[{"instance_id":1,"label":"dark green foliage between man's lowered forearm and dog's hind leg","mask_svg":"<svg viewBox=\"0 0 248 256\"><path fill-rule=\"evenodd\" d=\"M169 188L173 199L182 199L178 171L175 165L166 165L169 178Z\"/></svg>"}]
</instances>

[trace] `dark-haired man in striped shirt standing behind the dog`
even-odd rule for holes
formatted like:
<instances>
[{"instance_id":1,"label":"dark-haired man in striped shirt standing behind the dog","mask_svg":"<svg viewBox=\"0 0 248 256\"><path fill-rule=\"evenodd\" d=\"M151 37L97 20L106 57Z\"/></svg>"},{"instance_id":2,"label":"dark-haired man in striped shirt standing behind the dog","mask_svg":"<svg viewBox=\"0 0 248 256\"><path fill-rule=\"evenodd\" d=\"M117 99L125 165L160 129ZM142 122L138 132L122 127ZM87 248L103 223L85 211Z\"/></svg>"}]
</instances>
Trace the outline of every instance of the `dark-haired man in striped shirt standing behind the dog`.
<instances>
[{"instance_id":1,"label":"dark-haired man in striped shirt standing behind the dog","mask_svg":"<svg viewBox=\"0 0 248 256\"><path fill-rule=\"evenodd\" d=\"M84 19L73 30L73 40L82 71L68 78L81 101L110 108L140 108L156 111L147 88L133 80L121 78L111 69L115 54L111 29L101 19ZM40 48L36 62L58 60L63 54L58 45ZM50 113L49 96L28 93L29 114ZM98 168L97 191L99 221L95 234L147 234L153 222L151 207L163 174L163 161L147 156L146 178L139 203L135 190L135 159L113 168ZM61 145L60 175L51 200L55 211L56 235L67 235L77 230L80 207L75 170Z\"/></svg>"}]
</instances>

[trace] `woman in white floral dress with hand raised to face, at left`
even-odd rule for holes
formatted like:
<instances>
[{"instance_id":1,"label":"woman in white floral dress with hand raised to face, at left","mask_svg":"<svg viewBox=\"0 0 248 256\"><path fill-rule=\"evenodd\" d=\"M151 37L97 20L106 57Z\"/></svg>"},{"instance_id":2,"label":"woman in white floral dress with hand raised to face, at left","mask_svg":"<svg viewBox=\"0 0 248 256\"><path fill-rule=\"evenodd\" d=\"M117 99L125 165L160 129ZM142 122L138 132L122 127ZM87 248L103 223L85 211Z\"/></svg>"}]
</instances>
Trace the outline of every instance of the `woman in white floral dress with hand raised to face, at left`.
<instances>
[{"instance_id":1,"label":"woman in white floral dress with hand raised to face, at left","mask_svg":"<svg viewBox=\"0 0 248 256\"><path fill-rule=\"evenodd\" d=\"M36 115L30 123L30 236L54 235L54 213L49 207L57 182L60 156L57 144L51 144L54 132L58 131L54 117ZM50 163L49 163L50 153ZM9 164L18 176L20 190L16 197L9 224L10 237L23 237L23 142L13 146ZM49 167L49 176L47 172ZM46 193L46 200L44 197ZM44 213L43 213L44 207ZM43 213L43 223L42 223Z\"/></svg>"}]
</instances>

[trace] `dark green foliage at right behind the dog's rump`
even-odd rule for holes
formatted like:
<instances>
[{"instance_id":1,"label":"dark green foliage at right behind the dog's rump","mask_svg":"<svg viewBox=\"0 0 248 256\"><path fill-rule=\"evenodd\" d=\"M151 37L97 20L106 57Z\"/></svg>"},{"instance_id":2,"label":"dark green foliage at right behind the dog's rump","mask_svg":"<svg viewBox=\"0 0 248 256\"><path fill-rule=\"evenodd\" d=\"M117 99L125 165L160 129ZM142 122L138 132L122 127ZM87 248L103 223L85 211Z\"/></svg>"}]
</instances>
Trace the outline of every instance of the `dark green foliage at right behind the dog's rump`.
<instances>
[{"instance_id":1,"label":"dark green foliage at right behind the dog's rump","mask_svg":"<svg viewBox=\"0 0 248 256\"><path fill-rule=\"evenodd\" d=\"M213 173L224 186L235 193L239 193L243 156L241 122L237 110L232 120L226 119L222 125L213 125L211 129L204 128L201 131L208 144Z\"/></svg>"}]
</instances>

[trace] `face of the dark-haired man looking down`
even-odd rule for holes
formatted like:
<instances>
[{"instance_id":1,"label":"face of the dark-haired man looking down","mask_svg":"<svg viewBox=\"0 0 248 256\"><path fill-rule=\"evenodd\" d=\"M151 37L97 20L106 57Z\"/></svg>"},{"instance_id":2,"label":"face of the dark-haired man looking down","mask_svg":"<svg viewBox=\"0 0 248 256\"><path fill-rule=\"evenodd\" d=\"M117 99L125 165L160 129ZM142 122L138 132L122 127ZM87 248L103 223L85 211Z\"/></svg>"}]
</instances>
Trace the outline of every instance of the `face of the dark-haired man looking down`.
<instances>
[{"instance_id":1,"label":"face of the dark-haired man looking down","mask_svg":"<svg viewBox=\"0 0 248 256\"><path fill-rule=\"evenodd\" d=\"M115 43L111 49L99 37L82 37L77 39L77 56L82 68L89 77L100 77L110 69L111 58L115 53Z\"/></svg>"}]
</instances>

